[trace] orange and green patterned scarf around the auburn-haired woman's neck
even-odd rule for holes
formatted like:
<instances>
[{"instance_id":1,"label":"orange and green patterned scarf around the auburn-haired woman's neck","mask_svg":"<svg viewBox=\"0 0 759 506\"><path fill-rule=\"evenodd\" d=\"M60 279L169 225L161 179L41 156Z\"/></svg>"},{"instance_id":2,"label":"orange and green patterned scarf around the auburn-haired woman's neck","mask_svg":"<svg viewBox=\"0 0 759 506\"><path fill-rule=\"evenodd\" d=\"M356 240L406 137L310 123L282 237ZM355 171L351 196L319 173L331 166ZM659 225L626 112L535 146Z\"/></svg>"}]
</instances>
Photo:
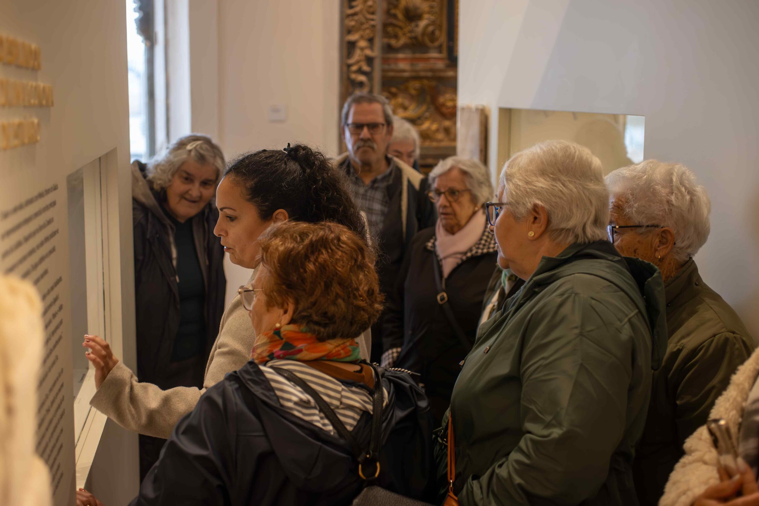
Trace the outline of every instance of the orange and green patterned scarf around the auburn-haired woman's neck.
<instances>
[{"instance_id":1,"label":"orange and green patterned scarf around the auburn-haired woman's neck","mask_svg":"<svg viewBox=\"0 0 759 506\"><path fill-rule=\"evenodd\" d=\"M285 325L257 335L250 357L258 364L279 359L338 362L357 362L361 359L354 338L317 341L317 336L301 325Z\"/></svg>"}]
</instances>

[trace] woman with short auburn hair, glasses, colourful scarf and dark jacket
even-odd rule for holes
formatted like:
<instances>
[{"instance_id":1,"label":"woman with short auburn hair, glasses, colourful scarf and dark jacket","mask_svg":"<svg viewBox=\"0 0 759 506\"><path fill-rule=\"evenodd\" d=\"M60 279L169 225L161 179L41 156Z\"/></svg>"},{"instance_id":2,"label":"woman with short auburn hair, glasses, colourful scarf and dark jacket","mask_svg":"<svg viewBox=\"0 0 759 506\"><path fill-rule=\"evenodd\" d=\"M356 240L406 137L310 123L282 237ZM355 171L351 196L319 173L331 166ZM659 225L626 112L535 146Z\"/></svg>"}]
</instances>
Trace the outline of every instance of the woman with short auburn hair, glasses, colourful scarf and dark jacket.
<instances>
[{"instance_id":1,"label":"woman with short auburn hair, glasses, colourful scarf and dark jacket","mask_svg":"<svg viewBox=\"0 0 759 506\"><path fill-rule=\"evenodd\" d=\"M351 504L362 475L430 498L427 398L405 372L380 372L358 353L355 336L383 300L367 244L342 225L302 222L273 225L259 242L254 281L240 289L252 360L178 423L132 504ZM363 458L379 406L379 452L359 464L340 427Z\"/></svg>"}]
</instances>

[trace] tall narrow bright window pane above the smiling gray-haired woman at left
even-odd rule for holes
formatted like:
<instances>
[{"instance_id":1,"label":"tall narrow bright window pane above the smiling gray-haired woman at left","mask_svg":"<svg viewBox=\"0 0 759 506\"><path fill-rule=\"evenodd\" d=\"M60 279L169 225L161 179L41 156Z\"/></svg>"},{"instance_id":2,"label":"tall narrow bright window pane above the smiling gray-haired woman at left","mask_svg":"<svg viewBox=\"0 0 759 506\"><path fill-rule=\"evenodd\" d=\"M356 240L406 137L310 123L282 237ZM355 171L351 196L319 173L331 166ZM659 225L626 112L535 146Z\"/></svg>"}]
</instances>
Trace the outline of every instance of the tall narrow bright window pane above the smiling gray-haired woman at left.
<instances>
[{"instance_id":1,"label":"tall narrow bright window pane above the smiling gray-haired woman at left","mask_svg":"<svg viewBox=\"0 0 759 506\"><path fill-rule=\"evenodd\" d=\"M129 149L146 162L156 150L153 88L153 0L126 0L129 69Z\"/></svg>"}]
</instances>

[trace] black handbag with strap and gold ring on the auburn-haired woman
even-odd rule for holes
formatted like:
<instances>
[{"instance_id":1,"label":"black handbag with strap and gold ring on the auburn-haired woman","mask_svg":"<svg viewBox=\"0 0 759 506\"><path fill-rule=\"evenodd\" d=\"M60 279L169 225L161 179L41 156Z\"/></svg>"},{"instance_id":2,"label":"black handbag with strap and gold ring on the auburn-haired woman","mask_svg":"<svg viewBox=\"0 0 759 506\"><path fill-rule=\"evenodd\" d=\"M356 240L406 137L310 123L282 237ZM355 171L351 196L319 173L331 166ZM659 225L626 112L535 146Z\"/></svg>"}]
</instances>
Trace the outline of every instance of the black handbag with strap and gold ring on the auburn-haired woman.
<instances>
[{"instance_id":1,"label":"black handbag with strap and gold ring on the auburn-haired woman","mask_svg":"<svg viewBox=\"0 0 759 506\"><path fill-rule=\"evenodd\" d=\"M371 485L379 477L379 450L380 440L382 439L382 412L384 400L384 391L382 386L382 376L380 376L379 370L375 366L371 366L374 371L374 377L376 378L374 385L374 395L372 398L373 410L372 410L372 435L369 443L368 450L364 451L361 446L358 445L356 438L353 437L351 432L339 419L335 411L329 407L329 404L322 398L322 396L311 388L311 386L304 382L297 374L282 369L280 367L272 367L279 375L285 377L290 382L298 385L304 392L306 392L313 401L319 407L319 410L326 416L335 431L351 445L351 451L353 451L354 457L358 461L358 476L364 480L364 489L359 495L356 496L351 503L353 506L432 506L430 503L417 501L416 499L405 497L404 495L395 494L389 490L383 489L380 486Z\"/></svg>"}]
</instances>

